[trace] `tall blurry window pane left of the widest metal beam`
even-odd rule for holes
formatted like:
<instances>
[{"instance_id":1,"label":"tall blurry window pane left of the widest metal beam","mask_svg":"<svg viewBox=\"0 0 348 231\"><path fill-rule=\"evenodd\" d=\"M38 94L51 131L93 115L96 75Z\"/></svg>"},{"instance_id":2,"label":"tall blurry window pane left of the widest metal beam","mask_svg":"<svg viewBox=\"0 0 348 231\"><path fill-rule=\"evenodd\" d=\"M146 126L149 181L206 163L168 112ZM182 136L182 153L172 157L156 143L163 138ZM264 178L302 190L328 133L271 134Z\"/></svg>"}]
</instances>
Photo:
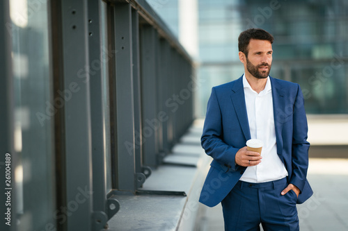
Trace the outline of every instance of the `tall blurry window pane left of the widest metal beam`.
<instances>
[{"instance_id":1,"label":"tall blurry window pane left of the widest metal beam","mask_svg":"<svg viewBox=\"0 0 348 231\"><path fill-rule=\"evenodd\" d=\"M35 6L35 7L34 7ZM46 1L11 0L18 230L54 225L52 78ZM52 227L52 226L51 226Z\"/></svg>"}]
</instances>

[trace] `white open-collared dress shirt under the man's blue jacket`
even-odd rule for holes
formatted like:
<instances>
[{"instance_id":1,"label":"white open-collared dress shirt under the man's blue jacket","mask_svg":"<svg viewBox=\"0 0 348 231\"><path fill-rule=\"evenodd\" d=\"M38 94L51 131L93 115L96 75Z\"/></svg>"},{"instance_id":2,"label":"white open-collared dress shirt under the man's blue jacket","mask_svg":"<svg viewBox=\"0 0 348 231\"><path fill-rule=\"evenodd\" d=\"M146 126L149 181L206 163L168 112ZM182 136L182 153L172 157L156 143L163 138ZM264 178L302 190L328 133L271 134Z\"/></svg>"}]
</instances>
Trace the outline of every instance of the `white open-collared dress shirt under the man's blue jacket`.
<instances>
[{"instance_id":1,"label":"white open-collared dress shirt under the man's blue jacket","mask_svg":"<svg viewBox=\"0 0 348 231\"><path fill-rule=\"evenodd\" d=\"M287 170L277 154L271 80L268 76L266 86L258 94L244 74L243 86L251 139L261 139L264 146L261 163L248 166L240 180L260 183L285 178Z\"/></svg>"}]
</instances>

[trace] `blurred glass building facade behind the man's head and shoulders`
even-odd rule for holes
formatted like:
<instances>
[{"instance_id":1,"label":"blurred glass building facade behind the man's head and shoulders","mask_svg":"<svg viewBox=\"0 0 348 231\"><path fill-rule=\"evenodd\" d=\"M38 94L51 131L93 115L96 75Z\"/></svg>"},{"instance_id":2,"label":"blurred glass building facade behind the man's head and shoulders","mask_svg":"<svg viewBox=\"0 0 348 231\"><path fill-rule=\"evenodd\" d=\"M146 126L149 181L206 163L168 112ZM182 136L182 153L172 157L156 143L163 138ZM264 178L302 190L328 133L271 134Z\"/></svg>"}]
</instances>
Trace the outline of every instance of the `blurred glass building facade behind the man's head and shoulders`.
<instances>
[{"instance_id":1,"label":"blurred glass building facade behind the man's head and shoulders","mask_svg":"<svg viewBox=\"0 0 348 231\"><path fill-rule=\"evenodd\" d=\"M237 40L247 28L263 28L274 35L270 75L301 85L308 114L348 114L347 1L196 1L198 78L204 83L197 97L198 117L205 116L213 86L244 73ZM164 20L165 7L156 9ZM167 23L171 22L173 17Z\"/></svg>"}]
</instances>

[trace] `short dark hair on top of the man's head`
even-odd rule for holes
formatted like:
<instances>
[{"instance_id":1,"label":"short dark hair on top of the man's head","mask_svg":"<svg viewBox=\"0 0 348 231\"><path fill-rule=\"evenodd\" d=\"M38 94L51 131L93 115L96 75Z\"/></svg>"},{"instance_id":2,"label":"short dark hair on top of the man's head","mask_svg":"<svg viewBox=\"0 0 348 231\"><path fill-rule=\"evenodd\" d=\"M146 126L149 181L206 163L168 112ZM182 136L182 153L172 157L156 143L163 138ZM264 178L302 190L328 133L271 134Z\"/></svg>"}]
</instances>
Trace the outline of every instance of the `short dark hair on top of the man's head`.
<instances>
[{"instance_id":1,"label":"short dark hair on top of the man's head","mask_svg":"<svg viewBox=\"0 0 348 231\"><path fill-rule=\"evenodd\" d=\"M248 57L248 44L250 40L268 40L273 43L274 37L260 28L250 28L240 33L238 37L238 49Z\"/></svg>"}]
</instances>

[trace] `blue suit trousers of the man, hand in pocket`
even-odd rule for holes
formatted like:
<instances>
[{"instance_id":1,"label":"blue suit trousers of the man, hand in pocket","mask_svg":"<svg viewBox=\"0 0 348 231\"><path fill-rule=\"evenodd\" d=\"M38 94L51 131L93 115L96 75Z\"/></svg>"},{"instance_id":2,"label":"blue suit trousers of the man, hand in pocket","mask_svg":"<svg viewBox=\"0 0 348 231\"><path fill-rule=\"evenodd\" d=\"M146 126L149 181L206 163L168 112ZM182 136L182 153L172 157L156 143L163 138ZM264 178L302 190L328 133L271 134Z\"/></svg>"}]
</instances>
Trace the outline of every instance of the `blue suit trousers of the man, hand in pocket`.
<instances>
[{"instance_id":1,"label":"blue suit trousers of the man, hand in pocket","mask_svg":"<svg viewBox=\"0 0 348 231\"><path fill-rule=\"evenodd\" d=\"M264 183L239 180L221 202L225 230L260 230L260 223L264 231L299 230L296 193L280 194L287 185L286 178Z\"/></svg>"}]
</instances>

